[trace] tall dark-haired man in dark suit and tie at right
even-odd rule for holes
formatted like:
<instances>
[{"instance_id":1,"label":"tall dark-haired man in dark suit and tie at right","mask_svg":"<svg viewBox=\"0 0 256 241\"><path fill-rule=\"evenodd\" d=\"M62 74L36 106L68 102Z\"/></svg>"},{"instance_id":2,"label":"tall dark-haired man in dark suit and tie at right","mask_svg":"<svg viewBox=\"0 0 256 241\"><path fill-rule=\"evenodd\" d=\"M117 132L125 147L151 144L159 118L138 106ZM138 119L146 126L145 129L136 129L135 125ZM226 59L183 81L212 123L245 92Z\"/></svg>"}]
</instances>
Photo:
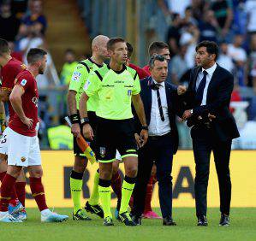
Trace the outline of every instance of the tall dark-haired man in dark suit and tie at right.
<instances>
[{"instance_id":1,"label":"tall dark-haired man in dark suit and tie at right","mask_svg":"<svg viewBox=\"0 0 256 241\"><path fill-rule=\"evenodd\" d=\"M185 94L187 110L183 120L192 126L193 156L196 164L194 192L198 226L207 226L207 185L213 151L220 192L220 226L229 226L231 181L229 156L233 138L239 137L235 119L229 112L234 78L217 65L217 44L203 41L196 47L196 62Z\"/></svg>"}]
</instances>

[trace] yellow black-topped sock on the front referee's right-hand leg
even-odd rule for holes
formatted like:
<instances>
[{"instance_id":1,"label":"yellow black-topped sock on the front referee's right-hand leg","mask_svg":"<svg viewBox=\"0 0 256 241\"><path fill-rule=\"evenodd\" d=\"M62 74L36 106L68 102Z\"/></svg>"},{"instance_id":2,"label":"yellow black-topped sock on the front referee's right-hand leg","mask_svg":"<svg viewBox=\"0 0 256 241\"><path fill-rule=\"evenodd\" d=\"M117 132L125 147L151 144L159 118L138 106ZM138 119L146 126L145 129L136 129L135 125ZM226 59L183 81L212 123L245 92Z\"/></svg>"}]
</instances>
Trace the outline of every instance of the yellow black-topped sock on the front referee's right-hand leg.
<instances>
[{"instance_id":1,"label":"yellow black-topped sock on the front referee's right-hand leg","mask_svg":"<svg viewBox=\"0 0 256 241\"><path fill-rule=\"evenodd\" d=\"M127 212L128 210L128 203L134 191L136 178L129 178L125 176L122 182L122 201L119 214Z\"/></svg>"}]
</instances>

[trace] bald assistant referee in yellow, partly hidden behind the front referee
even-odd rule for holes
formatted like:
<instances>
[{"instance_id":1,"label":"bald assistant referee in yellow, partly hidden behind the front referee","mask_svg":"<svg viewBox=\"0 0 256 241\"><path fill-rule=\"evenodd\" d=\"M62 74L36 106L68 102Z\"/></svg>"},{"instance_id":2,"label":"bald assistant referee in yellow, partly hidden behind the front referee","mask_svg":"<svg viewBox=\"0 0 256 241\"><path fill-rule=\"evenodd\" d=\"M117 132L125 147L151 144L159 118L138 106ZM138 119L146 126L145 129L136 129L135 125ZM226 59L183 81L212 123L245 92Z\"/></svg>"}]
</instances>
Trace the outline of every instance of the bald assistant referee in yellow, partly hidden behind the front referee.
<instances>
[{"instance_id":1,"label":"bald assistant referee in yellow, partly hidden behind the front referee","mask_svg":"<svg viewBox=\"0 0 256 241\"><path fill-rule=\"evenodd\" d=\"M74 167L70 175L70 190L74 203L73 220L91 220L84 209L80 205L80 193L82 189L82 178L87 165L86 156L80 150L76 143L76 137L80 135L80 116L79 116L79 101L86 79L93 70L105 66L104 60L108 57L107 42L109 38L104 35L98 35L92 40L92 57L79 62L68 90L68 110L70 120L72 122L71 132L74 134ZM92 97L87 103L88 115L93 122L96 122L95 110L98 106L98 97ZM98 172L94 176L94 185L92 194L88 202L86 202L86 211L96 214L103 218L103 210L98 205Z\"/></svg>"}]
</instances>

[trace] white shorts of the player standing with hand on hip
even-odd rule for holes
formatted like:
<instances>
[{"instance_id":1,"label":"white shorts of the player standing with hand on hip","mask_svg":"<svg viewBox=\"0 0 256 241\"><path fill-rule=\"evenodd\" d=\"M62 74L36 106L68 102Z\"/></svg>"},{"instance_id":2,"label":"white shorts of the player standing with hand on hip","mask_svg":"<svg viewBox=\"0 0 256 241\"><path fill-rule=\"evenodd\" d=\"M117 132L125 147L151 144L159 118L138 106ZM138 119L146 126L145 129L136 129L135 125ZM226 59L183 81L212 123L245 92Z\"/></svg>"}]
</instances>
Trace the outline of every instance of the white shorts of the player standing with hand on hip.
<instances>
[{"instance_id":1,"label":"white shorts of the player standing with hand on hip","mask_svg":"<svg viewBox=\"0 0 256 241\"><path fill-rule=\"evenodd\" d=\"M28 167L41 165L39 138L23 136L9 128L8 165Z\"/></svg>"}]
</instances>

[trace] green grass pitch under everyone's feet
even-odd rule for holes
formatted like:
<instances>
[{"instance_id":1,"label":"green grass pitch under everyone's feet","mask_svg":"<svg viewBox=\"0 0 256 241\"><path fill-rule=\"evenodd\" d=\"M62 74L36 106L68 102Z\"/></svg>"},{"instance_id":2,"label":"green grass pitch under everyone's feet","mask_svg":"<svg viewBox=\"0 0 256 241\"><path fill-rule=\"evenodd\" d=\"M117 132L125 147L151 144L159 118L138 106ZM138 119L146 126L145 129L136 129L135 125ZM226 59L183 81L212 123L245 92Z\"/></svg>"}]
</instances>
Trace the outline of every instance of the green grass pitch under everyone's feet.
<instances>
[{"instance_id":1,"label":"green grass pitch under everyone's feet","mask_svg":"<svg viewBox=\"0 0 256 241\"><path fill-rule=\"evenodd\" d=\"M1 240L256 240L256 209L231 209L231 225L218 226L218 209L208 209L209 226L196 226L194 209L174 209L177 226L163 226L162 220L143 220L142 226L103 226L103 220L72 220L72 209L56 209L69 220L41 223L38 209L27 209L28 220L21 224L0 223ZM159 209L156 209L159 214Z\"/></svg>"}]
</instances>

